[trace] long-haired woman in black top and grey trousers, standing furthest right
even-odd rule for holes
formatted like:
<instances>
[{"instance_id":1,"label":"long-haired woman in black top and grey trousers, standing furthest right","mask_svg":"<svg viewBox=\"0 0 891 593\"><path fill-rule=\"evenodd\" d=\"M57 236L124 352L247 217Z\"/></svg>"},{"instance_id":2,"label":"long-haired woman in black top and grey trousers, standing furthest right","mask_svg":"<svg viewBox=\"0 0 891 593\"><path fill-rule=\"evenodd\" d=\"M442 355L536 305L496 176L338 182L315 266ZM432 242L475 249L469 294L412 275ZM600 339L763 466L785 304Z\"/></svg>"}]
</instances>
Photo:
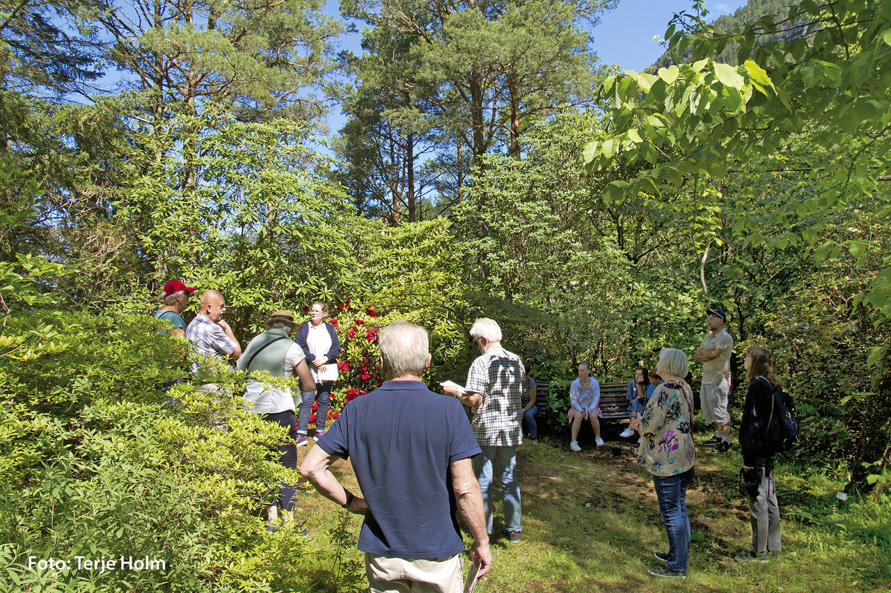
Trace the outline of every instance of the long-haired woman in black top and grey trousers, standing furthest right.
<instances>
[{"instance_id":1,"label":"long-haired woman in black top and grey trousers, standing furthest right","mask_svg":"<svg viewBox=\"0 0 891 593\"><path fill-rule=\"evenodd\" d=\"M740 451L745 483L748 483L748 509L752 521L752 549L735 556L745 562L766 562L780 556L780 507L773 483L773 455L768 429L773 421L775 393L779 382L773 374L771 353L751 346L744 360L748 378L746 404L740 422Z\"/></svg>"}]
</instances>

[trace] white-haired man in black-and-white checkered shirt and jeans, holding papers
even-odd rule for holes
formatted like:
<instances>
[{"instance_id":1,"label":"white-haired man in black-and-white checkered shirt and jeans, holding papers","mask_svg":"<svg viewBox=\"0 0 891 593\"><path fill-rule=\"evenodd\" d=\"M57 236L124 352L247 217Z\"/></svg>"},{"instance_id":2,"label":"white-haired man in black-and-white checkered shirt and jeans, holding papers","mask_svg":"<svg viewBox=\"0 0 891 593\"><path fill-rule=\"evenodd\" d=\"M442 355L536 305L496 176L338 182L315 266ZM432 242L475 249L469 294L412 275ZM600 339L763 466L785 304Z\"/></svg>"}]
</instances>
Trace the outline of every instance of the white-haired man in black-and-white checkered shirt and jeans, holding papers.
<instances>
[{"instance_id":1,"label":"white-haired man in black-and-white checkered shirt and jeans, holding papers","mask_svg":"<svg viewBox=\"0 0 891 593\"><path fill-rule=\"evenodd\" d=\"M482 355L467 373L467 385L444 387L473 410L470 425L483 451L473 458L473 469L486 507L486 531L492 533L492 481L501 478L504 492L504 528L508 541L519 543L519 480L517 447L523 442L523 363L501 345L498 323L483 317L470 328Z\"/></svg>"}]
</instances>

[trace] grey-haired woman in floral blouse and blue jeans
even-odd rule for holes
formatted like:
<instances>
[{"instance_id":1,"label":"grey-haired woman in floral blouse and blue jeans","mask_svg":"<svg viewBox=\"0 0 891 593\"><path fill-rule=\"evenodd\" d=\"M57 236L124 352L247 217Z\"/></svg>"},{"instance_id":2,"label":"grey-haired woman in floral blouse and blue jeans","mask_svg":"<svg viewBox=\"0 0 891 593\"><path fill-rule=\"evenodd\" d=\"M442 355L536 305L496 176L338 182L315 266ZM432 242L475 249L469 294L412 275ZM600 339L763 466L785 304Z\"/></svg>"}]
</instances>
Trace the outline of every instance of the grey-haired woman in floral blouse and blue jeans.
<instances>
[{"instance_id":1,"label":"grey-haired woman in floral blouse and blue jeans","mask_svg":"<svg viewBox=\"0 0 891 593\"><path fill-rule=\"evenodd\" d=\"M642 443L637 462L653 475L659 512L668 534L668 553L655 556L666 566L650 574L683 579L690 555L690 519L687 516L687 485L690 483L696 450L693 445L693 392L683 377L689 363L682 350L663 348L656 371L665 381L647 402L641 419Z\"/></svg>"}]
</instances>

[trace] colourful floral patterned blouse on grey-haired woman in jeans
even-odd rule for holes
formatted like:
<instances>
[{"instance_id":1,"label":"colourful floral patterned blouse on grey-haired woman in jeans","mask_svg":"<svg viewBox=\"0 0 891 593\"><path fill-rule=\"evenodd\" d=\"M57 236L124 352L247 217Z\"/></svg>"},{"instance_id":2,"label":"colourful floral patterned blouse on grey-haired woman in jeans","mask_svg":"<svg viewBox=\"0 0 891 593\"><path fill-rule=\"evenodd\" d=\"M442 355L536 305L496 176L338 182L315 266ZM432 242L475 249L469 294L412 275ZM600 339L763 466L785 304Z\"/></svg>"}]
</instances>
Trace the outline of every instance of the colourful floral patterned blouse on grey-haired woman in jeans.
<instances>
[{"instance_id":1,"label":"colourful floral patterned blouse on grey-haired woman in jeans","mask_svg":"<svg viewBox=\"0 0 891 593\"><path fill-rule=\"evenodd\" d=\"M652 475L683 474L696 465L693 392L689 385L663 383L647 402L641 420L637 463Z\"/></svg>"}]
</instances>

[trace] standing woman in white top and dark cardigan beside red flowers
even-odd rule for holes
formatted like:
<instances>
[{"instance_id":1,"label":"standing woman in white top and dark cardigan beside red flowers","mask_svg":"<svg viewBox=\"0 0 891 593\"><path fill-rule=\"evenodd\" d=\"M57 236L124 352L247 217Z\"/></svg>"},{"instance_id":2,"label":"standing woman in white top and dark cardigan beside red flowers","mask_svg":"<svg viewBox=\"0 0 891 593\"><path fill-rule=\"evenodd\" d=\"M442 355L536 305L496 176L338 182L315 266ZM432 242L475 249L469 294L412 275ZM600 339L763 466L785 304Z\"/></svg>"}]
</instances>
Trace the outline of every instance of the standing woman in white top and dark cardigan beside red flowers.
<instances>
[{"instance_id":1,"label":"standing woman in white top and dark cardigan beside red flowers","mask_svg":"<svg viewBox=\"0 0 891 593\"><path fill-rule=\"evenodd\" d=\"M297 417L297 446L307 443L307 426L312 415L313 400L317 399L315 410L315 439L325 434L328 421L328 403L331 387L337 380L337 357L340 355L340 340L331 323L325 322L328 305L313 301L309 305L309 321L304 321L298 329L294 341L307 355L309 370L315 379L315 396L311 392L300 394L302 402Z\"/></svg>"}]
</instances>

